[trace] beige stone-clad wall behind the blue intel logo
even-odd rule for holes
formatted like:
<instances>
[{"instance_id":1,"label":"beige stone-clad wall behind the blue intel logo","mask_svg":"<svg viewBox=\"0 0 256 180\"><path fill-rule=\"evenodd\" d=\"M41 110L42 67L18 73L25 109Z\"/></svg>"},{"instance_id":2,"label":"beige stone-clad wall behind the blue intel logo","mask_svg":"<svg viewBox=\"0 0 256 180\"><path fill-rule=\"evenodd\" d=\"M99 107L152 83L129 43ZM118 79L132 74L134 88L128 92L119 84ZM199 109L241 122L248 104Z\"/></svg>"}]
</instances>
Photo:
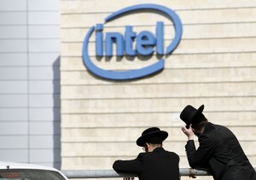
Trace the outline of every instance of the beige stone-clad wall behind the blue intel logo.
<instances>
[{"instance_id":1,"label":"beige stone-clad wall behind the blue intel logo","mask_svg":"<svg viewBox=\"0 0 256 180\"><path fill-rule=\"evenodd\" d=\"M126 82L93 76L82 59L89 28L119 9L140 3L165 5L183 21L182 41L166 57L166 68L152 77ZM133 159L142 152L135 143L137 137L150 126L168 131L165 148L180 155L180 167L189 167L179 119L187 104L205 104L207 118L234 131L256 166L255 12L254 0L62 0L62 169L112 169L114 160ZM113 20L105 28L124 32L125 26L133 25L137 32L154 32L156 21L163 19L170 29L168 43L173 30L165 18L143 12ZM156 55L97 61L91 39L90 57L106 69L135 69L159 61Z\"/></svg>"}]
</instances>

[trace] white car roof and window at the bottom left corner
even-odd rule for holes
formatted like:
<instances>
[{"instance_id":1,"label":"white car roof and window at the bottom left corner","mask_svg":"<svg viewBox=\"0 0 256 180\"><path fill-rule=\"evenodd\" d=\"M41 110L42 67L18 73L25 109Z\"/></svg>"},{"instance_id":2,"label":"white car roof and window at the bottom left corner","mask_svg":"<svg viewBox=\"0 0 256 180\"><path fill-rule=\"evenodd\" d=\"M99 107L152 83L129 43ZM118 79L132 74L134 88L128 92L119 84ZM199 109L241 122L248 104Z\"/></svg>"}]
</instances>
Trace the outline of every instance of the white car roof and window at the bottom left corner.
<instances>
[{"instance_id":1,"label":"white car roof and window at the bottom left corner","mask_svg":"<svg viewBox=\"0 0 256 180\"><path fill-rule=\"evenodd\" d=\"M0 161L0 180L67 180L53 167Z\"/></svg>"}]
</instances>

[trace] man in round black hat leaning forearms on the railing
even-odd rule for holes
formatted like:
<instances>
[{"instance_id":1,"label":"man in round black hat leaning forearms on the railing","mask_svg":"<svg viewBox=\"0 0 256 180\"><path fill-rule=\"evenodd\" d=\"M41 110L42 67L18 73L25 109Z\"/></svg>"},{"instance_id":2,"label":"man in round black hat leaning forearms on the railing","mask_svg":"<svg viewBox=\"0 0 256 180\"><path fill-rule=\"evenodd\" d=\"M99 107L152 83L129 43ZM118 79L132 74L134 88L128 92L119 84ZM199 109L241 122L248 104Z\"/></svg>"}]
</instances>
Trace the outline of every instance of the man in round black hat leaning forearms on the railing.
<instances>
[{"instance_id":1,"label":"man in round black hat leaning forearms on the railing","mask_svg":"<svg viewBox=\"0 0 256 180\"><path fill-rule=\"evenodd\" d=\"M118 172L136 173L140 180L179 180L179 157L162 147L168 133L151 127L143 131L137 139L137 145L145 153L137 155L135 160L116 160L113 169Z\"/></svg>"}]
</instances>

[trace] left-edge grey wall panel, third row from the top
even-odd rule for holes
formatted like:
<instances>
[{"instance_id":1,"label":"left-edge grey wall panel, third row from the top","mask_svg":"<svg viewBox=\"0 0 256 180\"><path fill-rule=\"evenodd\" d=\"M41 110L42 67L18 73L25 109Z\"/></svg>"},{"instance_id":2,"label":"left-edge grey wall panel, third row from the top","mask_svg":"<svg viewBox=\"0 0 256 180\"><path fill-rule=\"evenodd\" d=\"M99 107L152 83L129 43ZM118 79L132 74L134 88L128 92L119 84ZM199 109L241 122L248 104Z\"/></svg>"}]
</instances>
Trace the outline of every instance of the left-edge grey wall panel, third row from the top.
<instances>
[{"instance_id":1,"label":"left-edge grey wall panel, third row from the top","mask_svg":"<svg viewBox=\"0 0 256 180\"><path fill-rule=\"evenodd\" d=\"M1 38L26 38L27 34L26 26L1 26L0 39Z\"/></svg>"}]
</instances>

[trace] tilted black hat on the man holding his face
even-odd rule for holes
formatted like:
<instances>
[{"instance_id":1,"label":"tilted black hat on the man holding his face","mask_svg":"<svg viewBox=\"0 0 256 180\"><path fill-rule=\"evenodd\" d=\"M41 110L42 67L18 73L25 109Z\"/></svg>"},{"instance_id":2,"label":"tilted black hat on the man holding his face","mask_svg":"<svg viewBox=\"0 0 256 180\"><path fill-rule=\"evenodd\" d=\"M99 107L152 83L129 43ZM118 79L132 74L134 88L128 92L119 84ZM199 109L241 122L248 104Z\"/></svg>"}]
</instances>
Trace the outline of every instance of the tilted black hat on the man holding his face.
<instances>
[{"instance_id":1,"label":"tilted black hat on the man holding his face","mask_svg":"<svg viewBox=\"0 0 256 180\"><path fill-rule=\"evenodd\" d=\"M180 113L179 117L186 124L186 128L189 129L190 124L197 125L201 122L200 115L202 114L204 107L205 107L204 105L201 105L201 107L196 109L195 107L188 105L183 109L183 111L182 111L182 113Z\"/></svg>"}]
</instances>

